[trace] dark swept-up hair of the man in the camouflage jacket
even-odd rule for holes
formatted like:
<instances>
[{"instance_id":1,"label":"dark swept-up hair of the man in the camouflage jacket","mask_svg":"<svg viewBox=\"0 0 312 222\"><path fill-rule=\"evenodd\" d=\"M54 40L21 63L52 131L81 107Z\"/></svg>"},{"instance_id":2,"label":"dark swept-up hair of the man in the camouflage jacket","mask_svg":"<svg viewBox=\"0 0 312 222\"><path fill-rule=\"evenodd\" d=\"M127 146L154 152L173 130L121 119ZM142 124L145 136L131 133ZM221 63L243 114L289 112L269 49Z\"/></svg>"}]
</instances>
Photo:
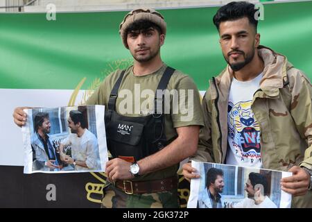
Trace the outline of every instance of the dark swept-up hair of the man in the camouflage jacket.
<instances>
[{"instance_id":1,"label":"dark swept-up hair of the man in the camouflage jacket","mask_svg":"<svg viewBox=\"0 0 312 222\"><path fill-rule=\"evenodd\" d=\"M250 24L254 26L257 33L258 20L254 18L254 15L259 13L258 11L259 9L255 9L253 3L246 1L232 1L219 8L216 15L214 15L214 25L219 31L221 22L234 21L236 19L248 17Z\"/></svg>"}]
</instances>

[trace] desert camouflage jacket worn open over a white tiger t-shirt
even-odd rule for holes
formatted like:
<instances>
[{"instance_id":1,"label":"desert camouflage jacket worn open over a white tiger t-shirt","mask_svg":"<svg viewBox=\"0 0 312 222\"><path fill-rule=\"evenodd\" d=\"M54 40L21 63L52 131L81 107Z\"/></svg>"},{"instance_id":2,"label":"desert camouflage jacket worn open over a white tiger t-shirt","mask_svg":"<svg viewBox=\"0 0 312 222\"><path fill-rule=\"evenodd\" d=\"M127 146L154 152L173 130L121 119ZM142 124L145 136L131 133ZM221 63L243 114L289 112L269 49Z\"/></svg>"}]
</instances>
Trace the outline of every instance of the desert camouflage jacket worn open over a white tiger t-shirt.
<instances>
[{"instance_id":1,"label":"desert camouflage jacket worn open over a white tiger t-shirt","mask_svg":"<svg viewBox=\"0 0 312 222\"><path fill-rule=\"evenodd\" d=\"M285 56L264 46L259 46L258 53L265 68L251 108L261 129L263 168L288 171L298 165L312 169L311 83ZM198 152L191 160L225 163L231 82L229 67L210 81L202 100L205 127L200 130ZM308 196L309 200L294 198L293 206L312 207L312 191Z\"/></svg>"}]
</instances>

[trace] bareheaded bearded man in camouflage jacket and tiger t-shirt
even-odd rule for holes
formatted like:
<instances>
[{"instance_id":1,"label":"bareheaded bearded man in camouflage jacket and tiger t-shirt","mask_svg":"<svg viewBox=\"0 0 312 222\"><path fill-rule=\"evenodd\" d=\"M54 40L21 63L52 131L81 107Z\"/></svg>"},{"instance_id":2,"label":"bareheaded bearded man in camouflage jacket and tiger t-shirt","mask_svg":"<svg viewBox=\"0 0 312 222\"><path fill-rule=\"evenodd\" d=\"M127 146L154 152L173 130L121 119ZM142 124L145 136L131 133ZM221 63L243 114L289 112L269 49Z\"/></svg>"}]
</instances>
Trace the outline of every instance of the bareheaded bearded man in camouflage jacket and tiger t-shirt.
<instances>
[{"instance_id":1,"label":"bareheaded bearded man in camouflage jacket and tiger t-shirt","mask_svg":"<svg viewBox=\"0 0 312 222\"><path fill-rule=\"evenodd\" d=\"M252 3L232 2L214 16L228 64L202 101L205 127L193 160L291 171L281 189L293 207L312 207L312 88L286 56L260 46ZM186 178L198 178L184 164Z\"/></svg>"}]
</instances>

